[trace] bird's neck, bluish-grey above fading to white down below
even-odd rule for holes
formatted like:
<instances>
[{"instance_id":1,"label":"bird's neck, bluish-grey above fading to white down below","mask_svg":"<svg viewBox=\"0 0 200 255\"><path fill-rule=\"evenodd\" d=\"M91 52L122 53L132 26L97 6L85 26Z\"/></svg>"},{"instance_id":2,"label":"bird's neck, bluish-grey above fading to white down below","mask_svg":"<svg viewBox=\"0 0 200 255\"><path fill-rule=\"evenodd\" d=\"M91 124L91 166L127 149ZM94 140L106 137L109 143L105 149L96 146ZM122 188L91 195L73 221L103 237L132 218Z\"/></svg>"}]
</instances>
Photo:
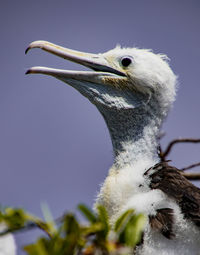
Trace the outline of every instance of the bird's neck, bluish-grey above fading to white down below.
<instances>
[{"instance_id":1,"label":"bird's neck, bluish-grey above fading to white down below","mask_svg":"<svg viewBox=\"0 0 200 255\"><path fill-rule=\"evenodd\" d=\"M151 107L109 110L102 113L114 151L114 168L122 169L139 161L157 163L158 134L162 117Z\"/></svg>"}]
</instances>

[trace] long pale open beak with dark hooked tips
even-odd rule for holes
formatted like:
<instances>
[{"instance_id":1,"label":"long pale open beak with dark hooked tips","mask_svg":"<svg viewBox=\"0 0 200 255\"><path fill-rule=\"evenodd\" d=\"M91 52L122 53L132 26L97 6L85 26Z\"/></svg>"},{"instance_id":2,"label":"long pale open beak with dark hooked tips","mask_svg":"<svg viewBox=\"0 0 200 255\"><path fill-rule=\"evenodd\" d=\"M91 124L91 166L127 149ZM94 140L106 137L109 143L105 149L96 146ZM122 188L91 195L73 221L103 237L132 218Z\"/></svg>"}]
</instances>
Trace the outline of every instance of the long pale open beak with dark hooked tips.
<instances>
[{"instance_id":1,"label":"long pale open beak with dark hooked tips","mask_svg":"<svg viewBox=\"0 0 200 255\"><path fill-rule=\"evenodd\" d=\"M51 75L64 81L67 81L67 79L74 79L97 84L106 83L106 81L113 79L123 79L126 76L125 73L111 67L103 57L103 54L91 54L70 50L47 41L32 42L26 49L25 53L33 48L41 48L42 50L45 50L61 58L89 67L94 71L69 71L36 66L28 69L26 74L40 73Z\"/></svg>"}]
</instances>

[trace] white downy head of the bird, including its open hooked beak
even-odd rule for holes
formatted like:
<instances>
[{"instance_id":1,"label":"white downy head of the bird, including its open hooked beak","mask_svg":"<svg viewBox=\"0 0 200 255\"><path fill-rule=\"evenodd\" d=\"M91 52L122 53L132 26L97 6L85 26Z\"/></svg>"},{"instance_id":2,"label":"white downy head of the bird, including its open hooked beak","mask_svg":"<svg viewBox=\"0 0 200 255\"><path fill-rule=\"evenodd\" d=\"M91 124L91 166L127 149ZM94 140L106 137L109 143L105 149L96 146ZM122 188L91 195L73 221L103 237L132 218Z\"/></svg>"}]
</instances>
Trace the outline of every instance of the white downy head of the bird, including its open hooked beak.
<instances>
[{"instance_id":1,"label":"white downy head of the bird, including its open hooked beak","mask_svg":"<svg viewBox=\"0 0 200 255\"><path fill-rule=\"evenodd\" d=\"M90 54L46 41L31 43L26 52L32 48L41 48L93 69L68 71L33 67L27 74L54 76L76 88L97 108L134 109L148 104L152 97L158 107L168 108L174 101L176 76L165 55L154 54L150 50L120 47L103 54Z\"/></svg>"}]
</instances>

